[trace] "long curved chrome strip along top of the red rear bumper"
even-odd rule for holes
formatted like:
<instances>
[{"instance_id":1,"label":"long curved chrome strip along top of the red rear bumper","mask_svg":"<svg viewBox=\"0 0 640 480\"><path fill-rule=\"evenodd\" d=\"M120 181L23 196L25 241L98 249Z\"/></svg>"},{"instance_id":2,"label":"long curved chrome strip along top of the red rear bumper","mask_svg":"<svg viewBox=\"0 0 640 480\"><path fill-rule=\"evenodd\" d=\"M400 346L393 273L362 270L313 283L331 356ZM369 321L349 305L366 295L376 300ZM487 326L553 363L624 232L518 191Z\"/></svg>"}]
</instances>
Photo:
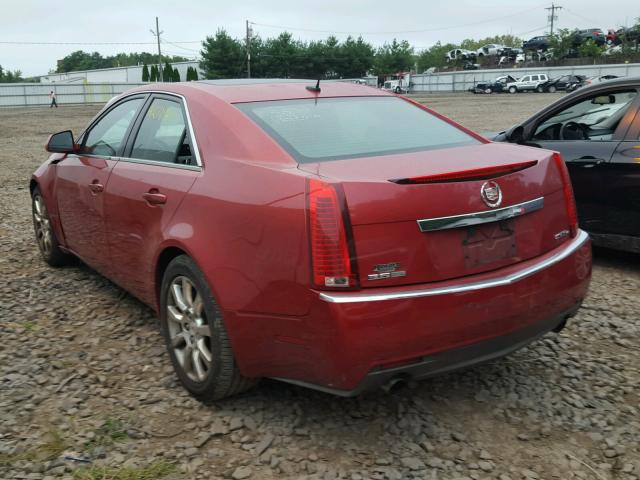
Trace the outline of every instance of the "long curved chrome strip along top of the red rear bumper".
<instances>
[{"instance_id":1,"label":"long curved chrome strip along top of the red rear bumper","mask_svg":"<svg viewBox=\"0 0 640 480\"><path fill-rule=\"evenodd\" d=\"M420 290L395 292L395 293L329 293L322 292L319 294L320 300L329 303L361 303L361 302L380 302L386 300L406 300L411 298L432 297L435 295L449 295L456 293L472 292L475 290L483 290L485 288L501 287L504 285L512 285L531 275L549 268L552 265L564 260L569 255L578 250L588 240L589 235L584 230L578 230L578 235L564 248L544 259L543 261L531 265L509 275L494 278L491 280L483 280L480 282L471 282L463 285L453 285L449 287L433 287Z\"/></svg>"}]
</instances>

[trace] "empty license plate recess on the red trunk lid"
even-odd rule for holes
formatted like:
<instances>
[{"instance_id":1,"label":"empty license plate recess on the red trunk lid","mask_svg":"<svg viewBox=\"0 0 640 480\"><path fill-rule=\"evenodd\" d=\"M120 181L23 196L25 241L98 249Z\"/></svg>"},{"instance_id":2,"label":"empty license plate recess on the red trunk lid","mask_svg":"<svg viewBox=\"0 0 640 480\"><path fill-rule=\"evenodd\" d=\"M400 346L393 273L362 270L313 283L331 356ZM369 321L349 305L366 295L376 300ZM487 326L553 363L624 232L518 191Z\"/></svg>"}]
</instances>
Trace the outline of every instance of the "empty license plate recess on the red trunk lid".
<instances>
[{"instance_id":1,"label":"empty license plate recess on the red trunk lid","mask_svg":"<svg viewBox=\"0 0 640 480\"><path fill-rule=\"evenodd\" d=\"M466 268L498 263L517 255L513 220L474 225L464 231L462 251Z\"/></svg>"}]
</instances>

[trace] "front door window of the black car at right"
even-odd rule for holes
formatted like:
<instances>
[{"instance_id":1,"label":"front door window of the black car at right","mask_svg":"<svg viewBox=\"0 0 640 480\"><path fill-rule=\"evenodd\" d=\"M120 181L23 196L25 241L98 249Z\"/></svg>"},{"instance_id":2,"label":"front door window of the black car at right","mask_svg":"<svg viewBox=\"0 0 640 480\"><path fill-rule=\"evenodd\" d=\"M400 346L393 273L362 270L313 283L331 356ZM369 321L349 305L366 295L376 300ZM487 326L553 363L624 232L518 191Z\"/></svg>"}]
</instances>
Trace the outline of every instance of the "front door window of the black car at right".
<instances>
[{"instance_id":1,"label":"front door window of the black car at right","mask_svg":"<svg viewBox=\"0 0 640 480\"><path fill-rule=\"evenodd\" d=\"M533 139L610 141L637 95L632 90L588 97L543 120Z\"/></svg>"}]
</instances>

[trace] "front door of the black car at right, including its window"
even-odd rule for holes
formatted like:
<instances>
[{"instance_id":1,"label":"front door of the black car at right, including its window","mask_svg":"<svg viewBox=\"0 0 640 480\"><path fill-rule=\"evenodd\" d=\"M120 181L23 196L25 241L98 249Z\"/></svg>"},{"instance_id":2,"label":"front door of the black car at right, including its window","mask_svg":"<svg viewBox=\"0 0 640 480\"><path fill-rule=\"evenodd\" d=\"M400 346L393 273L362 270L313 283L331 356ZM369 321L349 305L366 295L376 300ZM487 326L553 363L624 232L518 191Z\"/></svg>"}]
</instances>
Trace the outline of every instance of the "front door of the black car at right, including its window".
<instances>
[{"instance_id":1,"label":"front door of the black car at right, including its window","mask_svg":"<svg viewBox=\"0 0 640 480\"><path fill-rule=\"evenodd\" d=\"M609 100L613 102L602 103ZM532 142L562 154L580 225L589 232L606 229L604 170L629 128L636 100L637 92L629 88L582 95L539 118L532 129ZM589 131L584 133L580 125L588 126Z\"/></svg>"}]
</instances>

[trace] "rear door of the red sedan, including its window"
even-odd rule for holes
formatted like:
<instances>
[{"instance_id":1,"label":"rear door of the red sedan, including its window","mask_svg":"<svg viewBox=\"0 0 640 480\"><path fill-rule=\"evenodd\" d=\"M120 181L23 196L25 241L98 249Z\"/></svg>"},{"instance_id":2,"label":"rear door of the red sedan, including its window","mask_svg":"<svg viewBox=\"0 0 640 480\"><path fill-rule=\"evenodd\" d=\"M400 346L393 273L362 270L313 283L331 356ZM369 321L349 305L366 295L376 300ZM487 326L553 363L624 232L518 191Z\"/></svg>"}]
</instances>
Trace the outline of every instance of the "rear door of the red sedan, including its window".
<instances>
[{"instance_id":1,"label":"rear door of the red sedan, including its window","mask_svg":"<svg viewBox=\"0 0 640 480\"><path fill-rule=\"evenodd\" d=\"M158 247L200 171L183 99L153 94L105 191L110 277L147 304L155 303Z\"/></svg>"}]
</instances>

